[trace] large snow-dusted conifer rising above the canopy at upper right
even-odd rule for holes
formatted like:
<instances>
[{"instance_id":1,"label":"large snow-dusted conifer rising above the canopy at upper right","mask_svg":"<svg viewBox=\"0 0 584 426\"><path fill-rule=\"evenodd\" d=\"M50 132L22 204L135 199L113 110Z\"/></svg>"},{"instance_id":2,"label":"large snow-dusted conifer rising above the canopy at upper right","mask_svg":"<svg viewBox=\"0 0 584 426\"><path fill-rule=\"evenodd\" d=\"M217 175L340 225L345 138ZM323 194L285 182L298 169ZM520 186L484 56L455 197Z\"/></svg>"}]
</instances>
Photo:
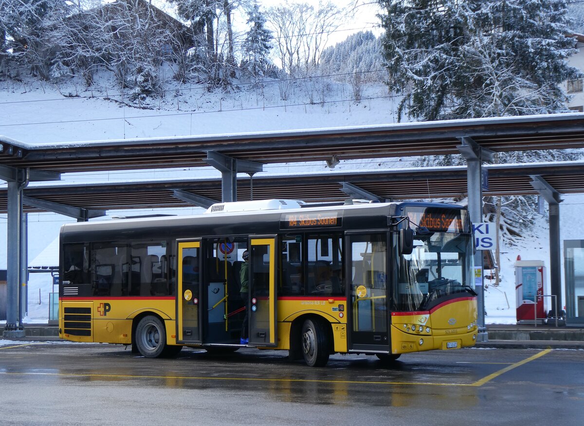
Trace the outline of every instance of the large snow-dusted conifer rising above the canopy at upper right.
<instances>
[{"instance_id":1,"label":"large snow-dusted conifer rising above the canopy at upper right","mask_svg":"<svg viewBox=\"0 0 584 426\"><path fill-rule=\"evenodd\" d=\"M414 120L566 110L565 0L379 0L390 89Z\"/></svg>"}]
</instances>

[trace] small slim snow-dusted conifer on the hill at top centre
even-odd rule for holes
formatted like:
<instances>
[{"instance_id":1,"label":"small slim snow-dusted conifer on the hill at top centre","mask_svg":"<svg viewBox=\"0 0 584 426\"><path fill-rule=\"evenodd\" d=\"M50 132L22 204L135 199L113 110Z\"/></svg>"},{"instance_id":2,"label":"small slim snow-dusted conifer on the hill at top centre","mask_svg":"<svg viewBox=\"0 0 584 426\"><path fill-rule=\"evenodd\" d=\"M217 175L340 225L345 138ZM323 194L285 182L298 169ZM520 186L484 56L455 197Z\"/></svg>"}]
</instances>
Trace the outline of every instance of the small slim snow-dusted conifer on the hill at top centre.
<instances>
[{"instance_id":1,"label":"small slim snow-dusted conifer on the hill at top centre","mask_svg":"<svg viewBox=\"0 0 584 426\"><path fill-rule=\"evenodd\" d=\"M254 2L252 9L248 12L247 24L249 31L245 35L243 43L243 60L241 68L255 78L262 78L266 74L269 55L272 45L272 33L266 29L266 18L259 10L259 5Z\"/></svg>"}]
</instances>

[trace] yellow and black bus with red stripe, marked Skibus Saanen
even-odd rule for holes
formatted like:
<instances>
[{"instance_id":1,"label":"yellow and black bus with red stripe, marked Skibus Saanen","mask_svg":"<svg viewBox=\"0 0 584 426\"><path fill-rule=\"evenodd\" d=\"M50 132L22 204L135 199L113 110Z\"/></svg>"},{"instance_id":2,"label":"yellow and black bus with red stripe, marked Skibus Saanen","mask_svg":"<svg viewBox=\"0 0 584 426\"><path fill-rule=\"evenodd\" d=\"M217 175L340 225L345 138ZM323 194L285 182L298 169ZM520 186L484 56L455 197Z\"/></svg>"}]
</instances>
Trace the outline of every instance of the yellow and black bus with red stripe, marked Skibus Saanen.
<instances>
[{"instance_id":1,"label":"yellow and black bus with red stripe, marked Skibus Saanen","mask_svg":"<svg viewBox=\"0 0 584 426\"><path fill-rule=\"evenodd\" d=\"M335 353L391 362L469 347L471 229L458 205L296 200L66 224L59 334L148 358L288 350L311 366Z\"/></svg>"}]
</instances>

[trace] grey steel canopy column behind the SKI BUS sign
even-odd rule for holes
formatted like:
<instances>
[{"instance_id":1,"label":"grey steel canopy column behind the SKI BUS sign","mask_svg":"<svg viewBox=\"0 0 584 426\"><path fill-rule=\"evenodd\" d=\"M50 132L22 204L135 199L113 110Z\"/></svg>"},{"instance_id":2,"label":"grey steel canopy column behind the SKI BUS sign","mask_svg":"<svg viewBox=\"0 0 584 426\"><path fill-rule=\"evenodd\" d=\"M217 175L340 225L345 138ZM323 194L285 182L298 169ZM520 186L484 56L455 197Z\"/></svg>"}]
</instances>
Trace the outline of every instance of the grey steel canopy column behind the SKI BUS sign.
<instances>
[{"instance_id":1,"label":"grey steel canopy column behind the SKI BUS sign","mask_svg":"<svg viewBox=\"0 0 584 426\"><path fill-rule=\"evenodd\" d=\"M492 151L482 148L471 138L460 138L462 142L457 148L467 160L467 192L468 213L473 224L482 223L482 161L492 159ZM485 288L483 286L482 251L474 255L475 274L480 274L480 280L475 280L477 286L478 335L477 341L488 340L485 327ZM474 277L472 277L474 279Z\"/></svg>"}]
</instances>

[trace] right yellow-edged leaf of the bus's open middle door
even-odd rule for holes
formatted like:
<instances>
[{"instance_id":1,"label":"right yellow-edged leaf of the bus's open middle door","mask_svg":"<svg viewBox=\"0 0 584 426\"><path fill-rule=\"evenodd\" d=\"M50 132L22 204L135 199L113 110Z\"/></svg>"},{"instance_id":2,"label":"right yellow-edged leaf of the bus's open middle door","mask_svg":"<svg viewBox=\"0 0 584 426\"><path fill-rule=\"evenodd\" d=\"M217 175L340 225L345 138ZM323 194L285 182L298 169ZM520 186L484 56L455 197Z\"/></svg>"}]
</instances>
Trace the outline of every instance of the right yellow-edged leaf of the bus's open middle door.
<instances>
[{"instance_id":1,"label":"right yellow-edged leaf of the bus's open middle door","mask_svg":"<svg viewBox=\"0 0 584 426\"><path fill-rule=\"evenodd\" d=\"M249 239L249 345L277 345L276 236Z\"/></svg>"}]
</instances>

